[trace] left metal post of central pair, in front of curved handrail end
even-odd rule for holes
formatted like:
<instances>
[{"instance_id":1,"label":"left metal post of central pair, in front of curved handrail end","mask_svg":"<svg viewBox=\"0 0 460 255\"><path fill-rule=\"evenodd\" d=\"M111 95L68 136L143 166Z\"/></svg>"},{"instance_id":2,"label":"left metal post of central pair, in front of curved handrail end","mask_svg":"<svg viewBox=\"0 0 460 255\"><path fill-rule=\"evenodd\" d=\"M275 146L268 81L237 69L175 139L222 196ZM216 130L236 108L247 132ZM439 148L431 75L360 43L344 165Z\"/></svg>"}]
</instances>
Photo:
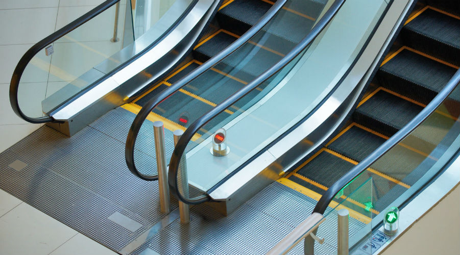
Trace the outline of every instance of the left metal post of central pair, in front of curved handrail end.
<instances>
[{"instance_id":1,"label":"left metal post of central pair, in front of curved handrail end","mask_svg":"<svg viewBox=\"0 0 460 255\"><path fill-rule=\"evenodd\" d=\"M153 134L155 139L155 155L157 157L158 187L160 193L160 212L170 212L170 187L167 183L166 154L164 150L163 122L153 122Z\"/></svg>"}]
</instances>

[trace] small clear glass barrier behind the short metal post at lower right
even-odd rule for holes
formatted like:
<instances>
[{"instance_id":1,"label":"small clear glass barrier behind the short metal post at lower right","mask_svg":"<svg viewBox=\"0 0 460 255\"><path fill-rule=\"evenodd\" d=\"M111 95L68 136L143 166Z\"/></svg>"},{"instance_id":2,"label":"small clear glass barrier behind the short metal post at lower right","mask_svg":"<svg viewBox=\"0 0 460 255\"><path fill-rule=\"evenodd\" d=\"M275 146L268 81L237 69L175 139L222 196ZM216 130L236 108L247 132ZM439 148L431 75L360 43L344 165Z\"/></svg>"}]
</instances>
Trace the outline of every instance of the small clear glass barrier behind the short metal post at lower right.
<instances>
[{"instance_id":1,"label":"small clear glass barrier behind the short metal post at lower right","mask_svg":"<svg viewBox=\"0 0 460 255\"><path fill-rule=\"evenodd\" d=\"M356 182L356 180L355 180ZM359 183L359 185L357 185ZM372 219L375 216L372 209L373 190L372 178L359 180L354 185L349 185L336 195L324 213L325 220L318 227L316 236L324 238L324 243L314 242L314 254L337 253L337 227L338 211L348 210L349 213L349 249L360 248L356 254L372 254L371 250L362 249L362 245L370 243L372 235ZM305 233L309 230L305 230ZM311 239L307 240L307 250ZM295 242L294 242L295 243ZM301 241L287 254L304 254L305 242ZM352 252L350 252L351 254Z\"/></svg>"}]
</instances>

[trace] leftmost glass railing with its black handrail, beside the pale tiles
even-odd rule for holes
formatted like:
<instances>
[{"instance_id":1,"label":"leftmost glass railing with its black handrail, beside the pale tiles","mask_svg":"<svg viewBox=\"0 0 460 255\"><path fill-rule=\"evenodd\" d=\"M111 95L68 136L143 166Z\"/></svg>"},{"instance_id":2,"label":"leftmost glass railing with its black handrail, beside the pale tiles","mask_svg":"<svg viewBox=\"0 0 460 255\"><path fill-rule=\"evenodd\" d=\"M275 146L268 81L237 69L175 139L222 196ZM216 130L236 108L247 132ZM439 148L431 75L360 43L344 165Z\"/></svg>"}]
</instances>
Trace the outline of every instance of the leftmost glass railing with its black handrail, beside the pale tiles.
<instances>
[{"instance_id":1,"label":"leftmost glass railing with its black handrail, beside the pale tiles","mask_svg":"<svg viewBox=\"0 0 460 255\"><path fill-rule=\"evenodd\" d=\"M163 1L138 0L137 4L146 2L162 6ZM149 29L136 41L132 2L109 0L35 44L13 73L13 110L32 123L53 121L50 112L153 46L181 18L180 11L196 1L164 2L177 8L162 8L163 18L152 17ZM153 12L154 6L149 11ZM168 16L167 22L164 16Z\"/></svg>"}]
</instances>

